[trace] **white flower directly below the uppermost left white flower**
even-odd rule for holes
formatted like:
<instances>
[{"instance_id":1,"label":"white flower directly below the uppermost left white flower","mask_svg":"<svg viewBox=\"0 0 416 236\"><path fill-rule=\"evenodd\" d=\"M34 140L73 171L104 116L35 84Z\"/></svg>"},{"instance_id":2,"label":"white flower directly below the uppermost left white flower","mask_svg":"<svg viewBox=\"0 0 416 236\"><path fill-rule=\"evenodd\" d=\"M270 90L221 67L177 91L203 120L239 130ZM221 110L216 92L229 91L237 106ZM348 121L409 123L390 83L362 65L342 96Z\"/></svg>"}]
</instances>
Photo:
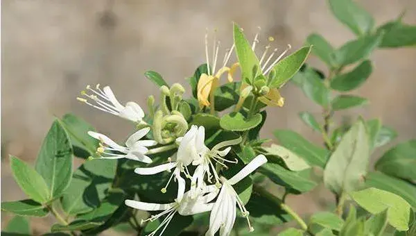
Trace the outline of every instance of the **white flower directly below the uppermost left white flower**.
<instances>
[{"instance_id":1,"label":"white flower directly below the uppermost left white flower","mask_svg":"<svg viewBox=\"0 0 416 236\"><path fill-rule=\"evenodd\" d=\"M125 146L116 144L110 137L107 137L101 133L88 131L88 134L97 140L100 140L100 146L97 149L97 153L101 155L101 158L105 159L119 159L127 158L131 160L138 160L140 162L151 163L146 154L148 151L147 146L154 146L157 144L155 140L140 140L144 137L150 128L142 128L136 133L133 133L125 142ZM114 151L119 153L114 153Z\"/></svg>"}]
</instances>

